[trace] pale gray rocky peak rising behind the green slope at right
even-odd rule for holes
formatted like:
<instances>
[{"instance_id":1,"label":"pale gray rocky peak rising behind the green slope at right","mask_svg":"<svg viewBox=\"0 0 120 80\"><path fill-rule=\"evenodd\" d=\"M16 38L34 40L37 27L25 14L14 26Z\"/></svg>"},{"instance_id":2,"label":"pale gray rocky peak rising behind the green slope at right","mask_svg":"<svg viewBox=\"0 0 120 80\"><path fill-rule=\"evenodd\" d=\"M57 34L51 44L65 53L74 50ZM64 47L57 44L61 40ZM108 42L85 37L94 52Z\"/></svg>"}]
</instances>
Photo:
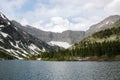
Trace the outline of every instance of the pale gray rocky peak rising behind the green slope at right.
<instances>
[{"instance_id":1,"label":"pale gray rocky peak rising behind the green slope at right","mask_svg":"<svg viewBox=\"0 0 120 80\"><path fill-rule=\"evenodd\" d=\"M91 36L95 32L113 27L114 23L119 19L120 19L119 15L109 16L108 18L104 19L98 24L91 26L90 29L85 32L85 37Z\"/></svg>"}]
</instances>

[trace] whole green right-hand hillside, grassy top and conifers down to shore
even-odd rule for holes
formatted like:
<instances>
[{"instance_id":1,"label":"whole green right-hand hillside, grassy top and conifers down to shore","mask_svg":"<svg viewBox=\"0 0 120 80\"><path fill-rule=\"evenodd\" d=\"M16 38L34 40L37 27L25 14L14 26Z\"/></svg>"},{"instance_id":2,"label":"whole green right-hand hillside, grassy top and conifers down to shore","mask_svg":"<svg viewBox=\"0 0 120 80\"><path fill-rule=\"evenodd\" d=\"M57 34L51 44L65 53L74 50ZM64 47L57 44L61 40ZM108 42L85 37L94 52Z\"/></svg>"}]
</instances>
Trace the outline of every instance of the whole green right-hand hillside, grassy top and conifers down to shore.
<instances>
[{"instance_id":1,"label":"whole green right-hand hillside, grassy top and conifers down to shore","mask_svg":"<svg viewBox=\"0 0 120 80\"><path fill-rule=\"evenodd\" d=\"M120 60L120 20L106 29L74 44L67 50L45 52L42 60Z\"/></svg>"}]
</instances>

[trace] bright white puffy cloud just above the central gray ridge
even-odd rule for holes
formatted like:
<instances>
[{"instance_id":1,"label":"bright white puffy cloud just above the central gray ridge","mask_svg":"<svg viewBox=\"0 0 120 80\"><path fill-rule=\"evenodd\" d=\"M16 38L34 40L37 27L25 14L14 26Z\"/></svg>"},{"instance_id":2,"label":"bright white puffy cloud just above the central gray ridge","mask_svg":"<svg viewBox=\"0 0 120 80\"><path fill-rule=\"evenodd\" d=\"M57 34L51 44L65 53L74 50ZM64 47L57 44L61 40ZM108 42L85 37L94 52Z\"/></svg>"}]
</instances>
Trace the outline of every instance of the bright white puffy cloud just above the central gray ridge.
<instances>
[{"instance_id":1,"label":"bright white puffy cloud just above the central gray ridge","mask_svg":"<svg viewBox=\"0 0 120 80\"><path fill-rule=\"evenodd\" d=\"M84 18L75 18L73 19L76 23L70 22L66 18L62 17L52 17L49 23L39 24L40 29L44 31L52 31L52 32L63 32L65 30L74 30L74 31L85 31L89 28L90 25L93 24L92 21ZM95 20L95 19L93 19Z\"/></svg>"}]
</instances>

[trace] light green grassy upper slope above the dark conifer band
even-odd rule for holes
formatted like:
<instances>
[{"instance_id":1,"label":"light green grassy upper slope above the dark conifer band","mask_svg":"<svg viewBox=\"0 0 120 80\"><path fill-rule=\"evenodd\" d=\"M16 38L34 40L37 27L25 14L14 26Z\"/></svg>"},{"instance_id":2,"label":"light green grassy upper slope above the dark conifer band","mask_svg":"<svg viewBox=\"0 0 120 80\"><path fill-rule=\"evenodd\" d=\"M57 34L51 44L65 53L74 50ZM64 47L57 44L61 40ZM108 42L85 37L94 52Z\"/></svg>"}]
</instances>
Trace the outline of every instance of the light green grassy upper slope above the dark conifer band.
<instances>
[{"instance_id":1,"label":"light green grassy upper slope above the dark conifer band","mask_svg":"<svg viewBox=\"0 0 120 80\"><path fill-rule=\"evenodd\" d=\"M120 19L116 21L111 28L93 33L91 36L73 45L70 49L81 47L80 45L83 44L84 42L102 43L104 41L116 41L116 40L120 40Z\"/></svg>"}]
</instances>

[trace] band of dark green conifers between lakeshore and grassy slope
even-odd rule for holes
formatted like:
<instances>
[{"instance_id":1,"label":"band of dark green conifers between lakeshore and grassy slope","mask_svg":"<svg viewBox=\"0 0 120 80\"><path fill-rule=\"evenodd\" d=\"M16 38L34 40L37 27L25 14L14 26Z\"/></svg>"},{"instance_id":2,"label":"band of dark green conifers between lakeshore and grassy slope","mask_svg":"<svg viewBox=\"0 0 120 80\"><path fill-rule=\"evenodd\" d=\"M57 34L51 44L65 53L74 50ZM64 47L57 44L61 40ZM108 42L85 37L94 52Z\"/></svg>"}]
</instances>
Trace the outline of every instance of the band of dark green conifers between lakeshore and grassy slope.
<instances>
[{"instance_id":1,"label":"band of dark green conifers between lakeshore and grassy slope","mask_svg":"<svg viewBox=\"0 0 120 80\"><path fill-rule=\"evenodd\" d=\"M81 47L67 49L64 51L42 53L43 60L77 60L77 57L86 58L98 56L100 58L112 59L120 55L120 40L104 42L83 42Z\"/></svg>"}]
</instances>

